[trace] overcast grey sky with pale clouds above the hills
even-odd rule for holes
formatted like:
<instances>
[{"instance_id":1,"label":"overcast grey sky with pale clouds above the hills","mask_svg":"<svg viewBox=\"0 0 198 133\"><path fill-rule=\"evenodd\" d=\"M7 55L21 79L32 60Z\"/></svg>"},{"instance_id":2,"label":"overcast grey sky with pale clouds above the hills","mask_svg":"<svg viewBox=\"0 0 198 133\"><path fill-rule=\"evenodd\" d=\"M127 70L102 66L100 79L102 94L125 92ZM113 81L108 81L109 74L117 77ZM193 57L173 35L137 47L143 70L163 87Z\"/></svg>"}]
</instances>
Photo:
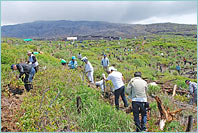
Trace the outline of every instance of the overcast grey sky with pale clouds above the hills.
<instances>
[{"instance_id":1,"label":"overcast grey sky with pale clouds above the hills","mask_svg":"<svg viewBox=\"0 0 198 133\"><path fill-rule=\"evenodd\" d=\"M197 24L197 3L195 1L3 1L1 11L1 25L38 20L89 20L129 24L162 22Z\"/></svg>"}]
</instances>

